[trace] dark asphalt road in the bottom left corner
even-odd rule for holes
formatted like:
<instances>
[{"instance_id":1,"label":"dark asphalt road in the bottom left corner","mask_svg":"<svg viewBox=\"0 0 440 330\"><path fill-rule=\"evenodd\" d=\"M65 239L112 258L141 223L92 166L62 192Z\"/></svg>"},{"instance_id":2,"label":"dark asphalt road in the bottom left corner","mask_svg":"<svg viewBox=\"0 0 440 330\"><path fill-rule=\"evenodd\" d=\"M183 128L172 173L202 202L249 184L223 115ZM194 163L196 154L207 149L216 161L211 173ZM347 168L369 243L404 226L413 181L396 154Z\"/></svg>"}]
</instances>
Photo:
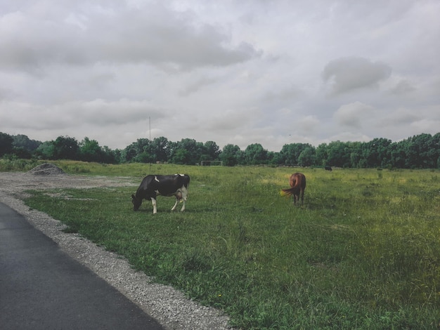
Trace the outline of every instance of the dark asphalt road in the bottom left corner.
<instances>
[{"instance_id":1,"label":"dark asphalt road in the bottom left corner","mask_svg":"<svg viewBox=\"0 0 440 330\"><path fill-rule=\"evenodd\" d=\"M1 329L163 329L0 203Z\"/></svg>"}]
</instances>

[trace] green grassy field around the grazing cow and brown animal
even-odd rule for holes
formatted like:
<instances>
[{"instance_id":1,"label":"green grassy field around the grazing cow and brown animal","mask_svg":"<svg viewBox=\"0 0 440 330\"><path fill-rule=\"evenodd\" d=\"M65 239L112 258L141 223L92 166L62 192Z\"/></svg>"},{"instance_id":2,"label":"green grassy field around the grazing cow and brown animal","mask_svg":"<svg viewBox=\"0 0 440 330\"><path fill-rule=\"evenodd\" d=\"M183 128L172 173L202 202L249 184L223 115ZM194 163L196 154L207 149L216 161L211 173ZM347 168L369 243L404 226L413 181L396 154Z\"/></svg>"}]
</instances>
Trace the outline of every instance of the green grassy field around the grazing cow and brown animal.
<instances>
[{"instance_id":1,"label":"green grassy field around the grazing cow and brown animal","mask_svg":"<svg viewBox=\"0 0 440 330\"><path fill-rule=\"evenodd\" d=\"M233 326L439 329L440 171L56 164L134 183L188 173L184 213L167 197L155 215L150 202L134 212L134 187L32 192L26 203ZM295 171L307 178L303 207L279 193Z\"/></svg>"}]
</instances>

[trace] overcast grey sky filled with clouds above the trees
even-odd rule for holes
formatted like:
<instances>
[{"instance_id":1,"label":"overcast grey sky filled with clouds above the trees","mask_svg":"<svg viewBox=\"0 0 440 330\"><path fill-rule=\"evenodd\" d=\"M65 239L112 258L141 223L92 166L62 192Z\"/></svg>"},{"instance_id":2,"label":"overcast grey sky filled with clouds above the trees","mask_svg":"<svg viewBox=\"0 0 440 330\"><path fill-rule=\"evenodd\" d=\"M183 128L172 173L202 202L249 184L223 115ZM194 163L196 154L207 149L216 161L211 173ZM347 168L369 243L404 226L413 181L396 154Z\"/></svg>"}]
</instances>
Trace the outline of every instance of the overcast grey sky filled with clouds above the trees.
<instances>
[{"instance_id":1,"label":"overcast grey sky filled with clouds above the trees","mask_svg":"<svg viewBox=\"0 0 440 330\"><path fill-rule=\"evenodd\" d=\"M439 17L439 0L1 1L0 132L271 151L438 133Z\"/></svg>"}]
</instances>

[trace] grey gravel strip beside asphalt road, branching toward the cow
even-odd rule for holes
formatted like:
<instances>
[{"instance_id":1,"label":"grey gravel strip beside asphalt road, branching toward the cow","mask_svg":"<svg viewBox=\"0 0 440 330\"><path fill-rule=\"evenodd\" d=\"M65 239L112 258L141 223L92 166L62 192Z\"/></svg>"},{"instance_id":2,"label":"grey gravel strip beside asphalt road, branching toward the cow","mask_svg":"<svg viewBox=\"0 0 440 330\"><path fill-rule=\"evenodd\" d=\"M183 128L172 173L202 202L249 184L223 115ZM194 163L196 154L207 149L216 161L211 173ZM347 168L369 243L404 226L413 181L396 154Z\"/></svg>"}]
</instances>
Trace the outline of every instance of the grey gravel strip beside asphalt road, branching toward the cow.
<instances>
[{"instance_id":1,"label":"grey gravel strip beside asphalt road, branching toward the cow","mask_svg":"<svg viewBox=\"0 0 440 330\"><path fill-rule=\"evenodd\" d=\"M0 202L21 213L45 235L51 237L63 251L90 268L99 277L122 292L157 319L167 329L231 329L228 317L219 310L207 308L183 296L171 286L153 283L143 272L131 269L117 254L105 251L77 234L63 232L60 221L46 213L31 210L22 202L25 190L63 187L137 187L130 178L70 176L56 172L0 172Z\"/></svg>"}]
</instances>

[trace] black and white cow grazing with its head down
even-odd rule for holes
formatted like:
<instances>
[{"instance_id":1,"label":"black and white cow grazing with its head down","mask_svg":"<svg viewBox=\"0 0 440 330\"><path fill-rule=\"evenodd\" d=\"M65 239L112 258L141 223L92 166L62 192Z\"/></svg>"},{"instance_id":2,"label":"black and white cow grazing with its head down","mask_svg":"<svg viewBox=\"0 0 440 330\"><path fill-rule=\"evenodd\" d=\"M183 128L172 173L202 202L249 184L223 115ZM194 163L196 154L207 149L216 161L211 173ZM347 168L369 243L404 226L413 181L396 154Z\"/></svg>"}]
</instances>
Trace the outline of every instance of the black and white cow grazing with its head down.
<instances>
[{"instance_id":1,"label":"black and white cow grazing with its head down","mask_svg":"<svg viewBox=\"0 0 440 330\"><path fill-rule=\"evenodd\" d=\"M131 202L134 205L134 211L138 211L142 200L146 199L153 204L153 214L157 213L157 196L175 196L176 203L171 209L176 209L177 203L183 202L181 211L185 211L186 197L188 196L188 185L190 177L187 174L174 174L173 176L145 176L141 185L136 191L136 196L131 195Z\"/></svg>"}]
</instances>

